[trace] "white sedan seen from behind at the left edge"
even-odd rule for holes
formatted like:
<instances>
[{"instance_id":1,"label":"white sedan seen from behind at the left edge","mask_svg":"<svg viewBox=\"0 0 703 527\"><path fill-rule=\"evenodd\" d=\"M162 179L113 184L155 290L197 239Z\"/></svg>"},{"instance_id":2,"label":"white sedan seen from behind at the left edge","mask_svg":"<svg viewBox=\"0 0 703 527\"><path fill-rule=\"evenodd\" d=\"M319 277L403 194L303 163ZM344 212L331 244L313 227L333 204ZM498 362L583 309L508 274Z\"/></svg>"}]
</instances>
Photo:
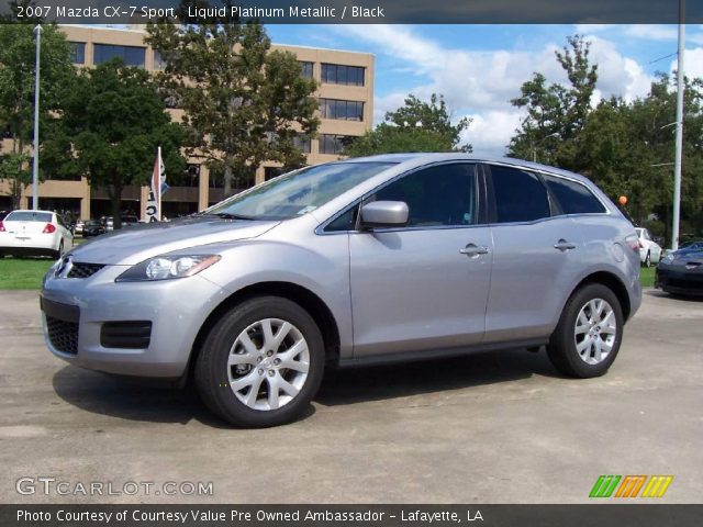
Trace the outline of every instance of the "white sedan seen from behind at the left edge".
<instances>
[{"instance_id":1,"label":"white sedan seen from behind at the left edge","mask_svg":"<svg viewBox=\"0 0 703 527\"><path fill-rule=\"evenodd\" d=\"M0 256L53 256L74 246L64 220L51 211L13 211L0 222Z\"/></svg>"}]
</instances>

